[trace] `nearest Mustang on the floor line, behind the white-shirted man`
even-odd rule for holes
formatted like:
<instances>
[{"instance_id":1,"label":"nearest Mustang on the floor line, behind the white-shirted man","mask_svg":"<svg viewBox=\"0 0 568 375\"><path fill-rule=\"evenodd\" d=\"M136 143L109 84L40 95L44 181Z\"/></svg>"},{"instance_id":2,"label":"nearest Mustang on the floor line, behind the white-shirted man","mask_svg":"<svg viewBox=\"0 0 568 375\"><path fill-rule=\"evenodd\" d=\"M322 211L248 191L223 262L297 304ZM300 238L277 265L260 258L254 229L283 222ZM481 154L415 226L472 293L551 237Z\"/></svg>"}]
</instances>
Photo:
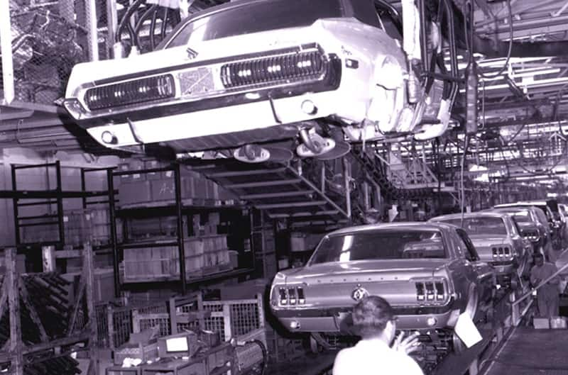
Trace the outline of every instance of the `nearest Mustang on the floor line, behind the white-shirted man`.
<instances>
[{"instance_id":1,"label":"nearest Mustang on the floor line, behind the white-shirted man","mask_svg":"<svg viewBox=\"0 0 568 375\"><path fill-rule=\"evenodd\" d=\"M495 272L466 232L444 223L361 225L324 236L305 267L276 274L271 309L292 332L353 335L351 309L386 298L399 330L419 330L433 348L456 348L461 313L486 318Z\"/></svg>"}]
</instances>

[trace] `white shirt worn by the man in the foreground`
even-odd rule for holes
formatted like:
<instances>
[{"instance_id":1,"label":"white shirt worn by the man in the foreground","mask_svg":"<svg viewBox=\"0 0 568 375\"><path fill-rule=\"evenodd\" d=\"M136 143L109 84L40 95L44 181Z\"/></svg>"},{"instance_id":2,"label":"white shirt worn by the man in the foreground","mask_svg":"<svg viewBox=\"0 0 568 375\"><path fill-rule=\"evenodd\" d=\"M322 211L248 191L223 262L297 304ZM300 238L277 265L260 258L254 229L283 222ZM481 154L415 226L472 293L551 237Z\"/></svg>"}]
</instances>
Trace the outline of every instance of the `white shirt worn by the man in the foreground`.
<instances>
[{"instance_id":1,"label":"white shirt worn by the man in the foreground","mask_svg":"<svg viewBox=\"0 0 568 375\"><path fill-rule=\"evenodd\" d=\"M382 340L361 340L335 357L333 375L424 375L408 354Z\"/></svg>"}]
</instances>

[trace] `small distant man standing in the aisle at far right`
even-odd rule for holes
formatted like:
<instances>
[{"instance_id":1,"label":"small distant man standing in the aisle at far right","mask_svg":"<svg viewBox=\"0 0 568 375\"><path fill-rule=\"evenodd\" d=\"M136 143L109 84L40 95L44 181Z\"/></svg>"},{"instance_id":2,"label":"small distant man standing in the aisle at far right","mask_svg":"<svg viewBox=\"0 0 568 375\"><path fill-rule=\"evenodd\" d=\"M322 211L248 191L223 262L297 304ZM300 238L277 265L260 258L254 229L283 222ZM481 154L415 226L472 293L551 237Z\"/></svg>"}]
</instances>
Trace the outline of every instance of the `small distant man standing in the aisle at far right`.
<instances>
[{"instance_id":1,"label":"small distant man standing in the aisle at far right","mask_svg":"<svg viewBox=\"0 0 568 375\"><path fill-rule=\"evenodd\" d=\"M555 264L545 262L544 257L542 257L540 253L535 254L533 257L535 259L535 265L530 270L530 283L535 287L552 276L552 274L555 274L558 269ZM559 283L559 276L555 276L538 289L537 304L540 317L550 319L553 316L559 315Z\"/></svg>"}]
</instances>

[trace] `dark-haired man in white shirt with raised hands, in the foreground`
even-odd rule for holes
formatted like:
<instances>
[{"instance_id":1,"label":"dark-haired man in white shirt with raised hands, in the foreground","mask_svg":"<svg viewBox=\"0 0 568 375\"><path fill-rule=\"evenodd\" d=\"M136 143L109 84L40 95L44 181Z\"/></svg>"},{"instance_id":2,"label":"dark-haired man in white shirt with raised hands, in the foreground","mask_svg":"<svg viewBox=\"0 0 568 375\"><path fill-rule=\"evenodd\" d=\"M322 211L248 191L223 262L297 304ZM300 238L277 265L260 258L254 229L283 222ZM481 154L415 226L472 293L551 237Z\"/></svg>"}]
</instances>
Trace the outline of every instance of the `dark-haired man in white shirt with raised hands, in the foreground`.
<instances>
[{"instance_id":1,"label":"dark-haired man in white shirt with raised hands, in the foreground","mask_svg":"<svg viewBox=\"0 0 568 375\"><path fill-rule=\"evenodd\" d=\"M353 309L353 323L361 340L337 354L333 375L423 375L420 366L408 356L417 349L417 335L404 340L400 335L390 346L395 321L393 308L384 298L362 298Z\"/></svg>"}]
</instances>

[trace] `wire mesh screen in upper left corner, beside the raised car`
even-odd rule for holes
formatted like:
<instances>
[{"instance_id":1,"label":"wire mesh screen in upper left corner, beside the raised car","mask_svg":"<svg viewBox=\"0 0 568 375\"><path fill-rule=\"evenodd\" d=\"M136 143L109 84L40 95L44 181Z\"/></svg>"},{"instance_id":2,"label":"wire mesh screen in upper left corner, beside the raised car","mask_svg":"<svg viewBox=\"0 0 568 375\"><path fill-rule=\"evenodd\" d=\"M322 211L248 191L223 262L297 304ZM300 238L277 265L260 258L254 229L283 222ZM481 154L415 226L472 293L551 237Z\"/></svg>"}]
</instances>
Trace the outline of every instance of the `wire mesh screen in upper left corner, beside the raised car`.
<instances>
[{"instance_id":1,"label":"wire mesh screen in upper left corner, beside the raised car","mask_svg":"<svg viewBox=\"0 0 568 375\"><path fill-rule=\"evenodd\" d=\"M6 1L6 0L4 0ZM9 38L1 50L4 74L11 60L12 82L0 82L2 98L13 85L16 101L52 105L64 95L72 67L89 60L96 47L89 31L94 0L9 0L9 12L0 12L8 23ZM6 40L4 40L6 42ZM9 69L9 65L6 65Z\"/></svg>"}]
</instances>

